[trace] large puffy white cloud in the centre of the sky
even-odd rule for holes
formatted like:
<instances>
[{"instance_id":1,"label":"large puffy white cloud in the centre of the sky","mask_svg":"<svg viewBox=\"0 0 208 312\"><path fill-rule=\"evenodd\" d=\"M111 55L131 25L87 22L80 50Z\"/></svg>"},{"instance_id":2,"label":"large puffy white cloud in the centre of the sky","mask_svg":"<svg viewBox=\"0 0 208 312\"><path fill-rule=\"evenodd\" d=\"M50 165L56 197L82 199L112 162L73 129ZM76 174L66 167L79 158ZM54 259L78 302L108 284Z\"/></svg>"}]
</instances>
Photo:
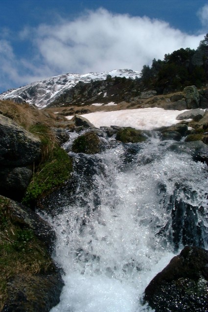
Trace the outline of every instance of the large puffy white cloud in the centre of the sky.
<instances>
[{"instance_id":1,"label":"large puffy white cloud in the centre of the sky","mask_svg":"<svg viewBox=\"0 0 208 312\"><path fill-rule=\"evenodd\" d=\"M196 48L204 36L190 36L167 22L147 17L90 11L75 21L41 25L36 44L54 70L89 72L131 68L140 70L153 58L181 47Z\"/></svg>"}]
</instances>

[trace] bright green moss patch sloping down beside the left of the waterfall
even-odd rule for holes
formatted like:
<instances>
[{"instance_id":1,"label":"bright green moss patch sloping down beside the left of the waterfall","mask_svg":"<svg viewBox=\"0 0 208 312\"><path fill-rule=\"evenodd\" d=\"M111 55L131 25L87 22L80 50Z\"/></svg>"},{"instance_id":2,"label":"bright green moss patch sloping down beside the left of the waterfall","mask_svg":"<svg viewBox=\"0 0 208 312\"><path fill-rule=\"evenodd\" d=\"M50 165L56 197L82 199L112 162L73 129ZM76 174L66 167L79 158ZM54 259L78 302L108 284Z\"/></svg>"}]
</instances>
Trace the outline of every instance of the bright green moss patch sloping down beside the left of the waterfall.
<instances>
[{"instance_id":1,"label":"bright green moss patch sloping down beside the left of the waterfall","mask_svg":"<svg viewBox=\"0 0 208 312\"><path fill-rule=\"evenodd\" d=\"M62 185L70 177L71 171L72 161L67 152L56 146L48 159L38 166L22 202L26 205L34 204Z\"/></svg>"}]
</instances>

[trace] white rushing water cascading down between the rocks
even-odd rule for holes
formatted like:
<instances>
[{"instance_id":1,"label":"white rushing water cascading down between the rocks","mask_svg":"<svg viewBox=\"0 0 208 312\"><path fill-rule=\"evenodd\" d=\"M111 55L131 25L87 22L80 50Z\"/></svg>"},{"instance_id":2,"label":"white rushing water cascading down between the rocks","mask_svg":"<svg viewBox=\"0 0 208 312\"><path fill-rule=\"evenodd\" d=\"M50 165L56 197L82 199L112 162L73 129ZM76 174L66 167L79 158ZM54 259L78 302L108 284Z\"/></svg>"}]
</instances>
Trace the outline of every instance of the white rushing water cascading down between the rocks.
<instances>
[{"instance_id":1,"label":"white rushing water cascading down between the rocks","mask_svg":"<svg viewBox=\"0 0 208 312\"><path fill-rule=\"evenodd\" d=\"M181 232L173 242L171 196L207 207L207 166L170 151L172 143L111 138L102 154L69 153L72 182L51 204L59 214L45 216L56 231L54 259L65 282L51 312L152 311L142 305L145 287L183 248L183 237L189 242ZM193 213L205 237L204 215Z\"/></svg>"}]
</instances>

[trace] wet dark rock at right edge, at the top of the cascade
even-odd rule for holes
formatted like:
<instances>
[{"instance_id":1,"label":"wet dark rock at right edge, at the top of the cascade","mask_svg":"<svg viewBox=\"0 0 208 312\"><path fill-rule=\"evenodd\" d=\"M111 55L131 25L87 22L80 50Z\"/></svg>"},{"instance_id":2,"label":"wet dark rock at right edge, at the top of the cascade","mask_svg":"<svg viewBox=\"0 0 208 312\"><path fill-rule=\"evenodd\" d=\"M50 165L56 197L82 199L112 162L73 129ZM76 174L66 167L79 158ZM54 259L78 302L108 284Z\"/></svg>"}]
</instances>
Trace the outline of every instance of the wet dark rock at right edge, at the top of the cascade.
<instances>
[{"instance_id":1,"label":"wet dark rock at right edge, at the top of the cascade","mask_svg":"<svg viewBox=\"0 0 208 312\"><path fill-rule=\"evenodd\" d=\"M208 164L208 145L202 141L176 142L168 147L168 150L177 153L187 153L195 161L206 162Z\"/></svg>"}]
</instances>

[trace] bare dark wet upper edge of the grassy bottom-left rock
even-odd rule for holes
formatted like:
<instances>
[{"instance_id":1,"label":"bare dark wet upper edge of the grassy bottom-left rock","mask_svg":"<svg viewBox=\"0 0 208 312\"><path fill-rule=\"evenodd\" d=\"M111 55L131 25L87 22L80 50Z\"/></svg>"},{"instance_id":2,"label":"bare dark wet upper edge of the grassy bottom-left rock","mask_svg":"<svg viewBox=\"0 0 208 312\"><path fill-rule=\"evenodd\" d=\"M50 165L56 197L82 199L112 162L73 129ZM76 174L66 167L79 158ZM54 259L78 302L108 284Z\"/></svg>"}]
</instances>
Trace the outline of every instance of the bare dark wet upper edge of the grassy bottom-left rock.
<instances>
[{"instance_id":1,"label":"bare dark wet upper edge of the grassy bottom-left rock","mask_svg":"<svg viewBox=\"0 0 208 312\"><path fill-rule=\"evenodd\" d=\"M51 253L55 241L55 232L52 227L33 210L17 201L8 200L8 207L12 220L22 228L33 230L38 239L44 243Z\"/></svg>"}]
</instances>

